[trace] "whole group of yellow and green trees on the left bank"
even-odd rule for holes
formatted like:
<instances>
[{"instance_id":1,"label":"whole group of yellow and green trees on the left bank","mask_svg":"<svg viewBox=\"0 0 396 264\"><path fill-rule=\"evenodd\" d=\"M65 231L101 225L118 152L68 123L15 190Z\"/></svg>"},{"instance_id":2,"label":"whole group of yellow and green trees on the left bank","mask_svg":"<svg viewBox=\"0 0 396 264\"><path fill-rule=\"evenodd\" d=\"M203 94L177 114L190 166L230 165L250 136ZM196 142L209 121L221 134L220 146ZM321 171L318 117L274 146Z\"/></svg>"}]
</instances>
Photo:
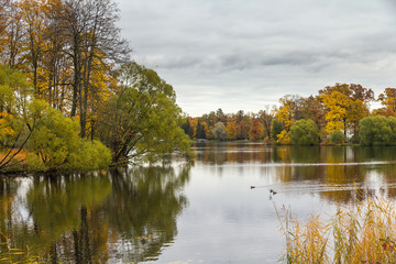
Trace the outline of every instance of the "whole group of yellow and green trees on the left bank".
<instances>
[{"instance_id":1,"label":"whole group of yellow and green trees on the left bank","mask_svg":"<svg viewBox=\"0 0 396 264\"><path fill-rule=\"evenodd\" d=\"M0 0L0 172L188 156L170 85L134 63L111 0Z\"/></svg>"}]
</instances>

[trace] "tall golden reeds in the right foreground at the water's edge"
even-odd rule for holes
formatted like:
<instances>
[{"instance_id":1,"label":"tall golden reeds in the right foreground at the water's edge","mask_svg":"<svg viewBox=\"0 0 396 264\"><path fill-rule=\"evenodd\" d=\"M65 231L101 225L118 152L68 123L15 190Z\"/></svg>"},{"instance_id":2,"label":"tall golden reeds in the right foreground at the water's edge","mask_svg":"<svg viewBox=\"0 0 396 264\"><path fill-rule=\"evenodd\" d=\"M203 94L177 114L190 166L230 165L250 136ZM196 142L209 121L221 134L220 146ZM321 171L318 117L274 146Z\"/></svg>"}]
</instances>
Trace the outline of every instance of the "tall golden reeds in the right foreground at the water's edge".
<instances>
[{"instance_id":1,"label":"tall golden reeds in the right foreground at the water's edge","mask_svg":"<svg viewBox=\"0 0 396 264\"><path fill-rule=\"evenodd\" d=\"M323 218L311 216L302 224L288 211L279 217L286 239L284 263L396 263L393 201L369 197Z\"/></svg>"}]
</instances>

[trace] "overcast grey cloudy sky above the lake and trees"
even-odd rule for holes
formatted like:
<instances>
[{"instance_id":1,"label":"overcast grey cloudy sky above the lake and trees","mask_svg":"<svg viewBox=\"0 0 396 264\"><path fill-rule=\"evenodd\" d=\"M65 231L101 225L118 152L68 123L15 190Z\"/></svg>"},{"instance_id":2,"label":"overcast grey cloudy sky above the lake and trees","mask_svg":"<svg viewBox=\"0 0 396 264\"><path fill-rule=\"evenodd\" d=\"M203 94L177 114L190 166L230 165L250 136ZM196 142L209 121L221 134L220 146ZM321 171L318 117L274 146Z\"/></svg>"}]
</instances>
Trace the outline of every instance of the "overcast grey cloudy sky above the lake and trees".
<instances>
[{"instance_id":1,"label":"overcast grey cloudy sky above the lake and trees","mask_svg":"<svg viewBox=\"0 0 396 264\"><path fill-rule=\"evenodd\" d=\"M396 87L393 0L116 1L132 58L173 85L193 117L256 112L336 82L375 96Z\"/></svg>"}]
</instances>

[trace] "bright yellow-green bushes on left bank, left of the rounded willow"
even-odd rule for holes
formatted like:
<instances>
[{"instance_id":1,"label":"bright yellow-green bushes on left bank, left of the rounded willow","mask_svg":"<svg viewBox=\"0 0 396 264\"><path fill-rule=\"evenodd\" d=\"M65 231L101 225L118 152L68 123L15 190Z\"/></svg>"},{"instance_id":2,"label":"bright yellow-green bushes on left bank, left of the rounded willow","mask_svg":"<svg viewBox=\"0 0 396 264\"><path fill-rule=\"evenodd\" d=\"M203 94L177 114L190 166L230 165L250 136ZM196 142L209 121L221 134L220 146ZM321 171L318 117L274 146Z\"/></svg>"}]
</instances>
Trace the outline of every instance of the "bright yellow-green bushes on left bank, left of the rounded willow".
<instances>
[{"instance_id":1,"label":"bright yellow-green bushes on left bank, left of the rounded willow","mask_svg":"<svg viewBox=\"0 0 396 264\"><path fill-rule=\"evenodd\" d=\"M33 100L29 109L36 120L29 141L31 169L92 170L110 164L111 153L103 144L79 138L78 120L42 100Z\"/></svg>"}]
</instances>

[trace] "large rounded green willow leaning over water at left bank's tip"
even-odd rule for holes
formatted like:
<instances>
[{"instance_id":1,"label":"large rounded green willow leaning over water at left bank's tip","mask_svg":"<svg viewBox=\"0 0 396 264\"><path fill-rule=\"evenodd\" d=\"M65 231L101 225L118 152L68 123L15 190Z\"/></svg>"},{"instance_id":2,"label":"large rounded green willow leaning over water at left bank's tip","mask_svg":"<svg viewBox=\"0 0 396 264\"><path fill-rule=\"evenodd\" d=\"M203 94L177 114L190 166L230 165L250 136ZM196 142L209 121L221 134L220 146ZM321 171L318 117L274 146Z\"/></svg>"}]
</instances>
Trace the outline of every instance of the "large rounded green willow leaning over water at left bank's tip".
<instances>
[{"instance_id":1,"label":"large rounded green willow leaning over water at left bank's tip","mask_svg":"<svg viewBox=\"0 0 396 264\"><path fill-rule=\"evenodd\" d=\"M173 87L135 63L123 65L119 79L118 91L98 120L101 141L112 150L113 162L153 162L168 158L175 151L188 155L188 136L180 128L182 109Z\"/></svg>"}]
</instances>

